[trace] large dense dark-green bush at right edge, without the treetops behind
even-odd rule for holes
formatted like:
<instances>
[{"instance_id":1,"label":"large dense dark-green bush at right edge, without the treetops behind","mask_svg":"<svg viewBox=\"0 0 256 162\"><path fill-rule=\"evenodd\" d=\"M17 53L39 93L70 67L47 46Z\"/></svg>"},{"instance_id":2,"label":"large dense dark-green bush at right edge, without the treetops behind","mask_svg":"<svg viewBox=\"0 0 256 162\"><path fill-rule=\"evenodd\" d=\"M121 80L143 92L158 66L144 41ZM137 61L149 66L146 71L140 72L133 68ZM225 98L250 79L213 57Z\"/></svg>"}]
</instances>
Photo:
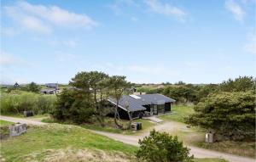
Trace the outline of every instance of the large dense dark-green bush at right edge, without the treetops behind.
<instances>
[{"instance_id":1,"label":"large dense dark-green bush at right edge, without the treetops behind","mask_svg":"<svg viewBox=\"0 0 256 162\"><path fill-rule=\"evenodd\" d=\"M195 106L195 114L190 115L186 123L215 131L221 138L254 139L255 95L253 92L211 94Z\"/></svg>"}]
</instances>

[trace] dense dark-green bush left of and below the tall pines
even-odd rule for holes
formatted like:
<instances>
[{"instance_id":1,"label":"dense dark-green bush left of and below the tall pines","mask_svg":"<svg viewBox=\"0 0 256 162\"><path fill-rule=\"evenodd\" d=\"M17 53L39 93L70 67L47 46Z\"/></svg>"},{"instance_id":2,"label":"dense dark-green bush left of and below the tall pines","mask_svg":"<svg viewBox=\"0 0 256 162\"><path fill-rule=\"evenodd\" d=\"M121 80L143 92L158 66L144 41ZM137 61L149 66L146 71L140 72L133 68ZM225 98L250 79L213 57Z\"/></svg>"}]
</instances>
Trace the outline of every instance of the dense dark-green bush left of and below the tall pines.
<instances>
[{"instance_id":1,"label":"dense dark-green bush left of and below the tall pines","mask_svg":"<svg viewBox=\"0 0 256 162\"><path fill-rule=\"evenodd\" d=\"M95 114L90 93L79 90L64 90L57 96L54 111L55 120L71 120L75 123L90 122Z\"/></svg>"}]
</instances>

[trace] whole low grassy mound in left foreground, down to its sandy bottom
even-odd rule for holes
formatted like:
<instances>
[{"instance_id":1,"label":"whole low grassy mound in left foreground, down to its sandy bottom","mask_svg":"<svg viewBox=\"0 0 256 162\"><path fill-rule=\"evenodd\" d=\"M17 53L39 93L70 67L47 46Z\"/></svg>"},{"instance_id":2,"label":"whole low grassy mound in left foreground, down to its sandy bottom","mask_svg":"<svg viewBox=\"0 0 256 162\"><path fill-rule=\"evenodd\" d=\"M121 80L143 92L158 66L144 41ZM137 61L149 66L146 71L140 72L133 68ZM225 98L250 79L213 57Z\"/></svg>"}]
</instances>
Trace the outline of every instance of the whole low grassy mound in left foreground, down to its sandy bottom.
<instances>
[{"instance_id":1,"label":"whole low grassy mound in left foreground, down to its sandy bottom","mask_svg":"<svg viewBox=\"0 0 256 162\"><path fill-rule=\"evenodd\" d=\"M86 153L86 150L90 150L88 153L90 158L93 154L99 153L97 150L102 150L98 155L100 157L101 154L107 154L108 159L118 156L121 159L117 161L127 161L134 158L137 147L96 135L79 126L60 124L32 126L20 137L9 137L9 139L1 141L1 156L6 161L41 161L52 158L73 159L79 158L79 156L86 158L87 154L81 154ZM64 153L70 156L75 153L73 155L75 157L66 156ZM66 161L73 161L67 159Z\"/></svg>"}]
</instances>

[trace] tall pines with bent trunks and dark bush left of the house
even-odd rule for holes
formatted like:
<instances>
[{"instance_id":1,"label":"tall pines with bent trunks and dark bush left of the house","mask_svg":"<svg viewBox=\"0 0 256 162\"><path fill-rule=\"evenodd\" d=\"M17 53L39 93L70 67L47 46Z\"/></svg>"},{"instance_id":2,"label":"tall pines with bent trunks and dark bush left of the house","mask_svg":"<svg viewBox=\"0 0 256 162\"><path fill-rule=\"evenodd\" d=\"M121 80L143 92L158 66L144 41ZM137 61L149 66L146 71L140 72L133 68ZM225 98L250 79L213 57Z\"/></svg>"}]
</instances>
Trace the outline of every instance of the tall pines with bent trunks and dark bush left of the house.
<instances>
[{"instance_id":1,"label":"tall pines with bent trunks and dark bush left of the house","mask_svg":"<svg viewBox=\"0 0 256 162\"><path fill-rule=\"evenodd\" d=\"M56 120L73 120L76 123L89 122L92 117L105 126L104 117L109 113L108 98L115 98L116 107L113 109L114 122L121 129L131 126L119 124L118 103L123 93L128 91L131 83L125 81L125 76L109 76L98 71L79 72L72 78L66 89L57 97L55 110L52 112ZM129 112L129 108L127 108ZM128 113L130 115L130 113Z\"/></svg>"}]
</instances>

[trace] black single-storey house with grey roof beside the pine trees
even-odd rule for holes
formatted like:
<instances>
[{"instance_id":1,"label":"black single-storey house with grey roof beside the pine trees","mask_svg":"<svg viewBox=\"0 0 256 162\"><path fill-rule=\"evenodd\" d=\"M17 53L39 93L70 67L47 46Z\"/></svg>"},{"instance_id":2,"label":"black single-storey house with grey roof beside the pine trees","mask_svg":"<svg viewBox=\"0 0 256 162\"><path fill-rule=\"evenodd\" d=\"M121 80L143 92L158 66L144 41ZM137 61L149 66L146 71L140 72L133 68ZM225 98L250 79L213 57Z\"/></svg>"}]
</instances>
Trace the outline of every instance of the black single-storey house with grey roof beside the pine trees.
<instances>
[{"instance_id":1,"label":"black single-storey house with grey roof beside the pine trees","mask_svg":"<svg viewBox=\"0 0 256 162\"><path fill-rule=\"evenodd\" d=\"M113 98L108 98L108 102L114 106L117 104L116 99ZM119 99L119 117L129 119L128 111L133 119L170 112L174 102L174 99L162 94L124 95Z\"/></svg>"}]
</instances>

